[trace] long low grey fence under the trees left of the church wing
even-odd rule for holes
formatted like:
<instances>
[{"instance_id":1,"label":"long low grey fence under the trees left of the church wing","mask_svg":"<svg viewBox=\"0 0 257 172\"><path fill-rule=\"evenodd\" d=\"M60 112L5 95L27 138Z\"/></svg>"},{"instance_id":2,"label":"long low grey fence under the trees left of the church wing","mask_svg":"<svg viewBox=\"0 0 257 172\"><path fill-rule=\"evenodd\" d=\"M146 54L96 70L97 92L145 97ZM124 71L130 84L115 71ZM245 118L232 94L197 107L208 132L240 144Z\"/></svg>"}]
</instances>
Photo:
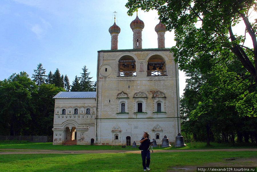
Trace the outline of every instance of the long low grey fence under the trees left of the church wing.
<instances>
[{"instance_id":1,"label":"long low grey fence under the trees left of the church wing","mask_svg":"<svg viewBox=\"0 0 257 172\"><path fill-rule=\"evenodd\" d=\"M31 142L53 142L53 137L52 136L25 136L25 135L6 135L6 136L1 136L0 135L0 140L23 140L23 141L31 141Z\"/></svg>"}]
</instances>

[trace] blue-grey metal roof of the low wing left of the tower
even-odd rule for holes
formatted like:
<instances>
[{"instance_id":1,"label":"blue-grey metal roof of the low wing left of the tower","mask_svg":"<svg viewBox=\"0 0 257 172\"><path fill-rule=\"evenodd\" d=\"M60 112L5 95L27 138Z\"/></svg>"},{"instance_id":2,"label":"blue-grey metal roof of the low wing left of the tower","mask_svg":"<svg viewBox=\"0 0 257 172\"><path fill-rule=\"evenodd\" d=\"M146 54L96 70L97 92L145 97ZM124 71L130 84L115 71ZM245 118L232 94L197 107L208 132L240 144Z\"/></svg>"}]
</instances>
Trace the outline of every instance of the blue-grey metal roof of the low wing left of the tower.
<instances>
[{"instance_id":1,"label":"blue-grey metal roof of the low wing left of the tower","mask_svg":"<svg viewBox=\"0 0 257 172\"><path fill-rule=\"evenodd\" d=\"M96 92L59 92L53 99L59 98L96 98Z\"/></svg>"}]
</instances>

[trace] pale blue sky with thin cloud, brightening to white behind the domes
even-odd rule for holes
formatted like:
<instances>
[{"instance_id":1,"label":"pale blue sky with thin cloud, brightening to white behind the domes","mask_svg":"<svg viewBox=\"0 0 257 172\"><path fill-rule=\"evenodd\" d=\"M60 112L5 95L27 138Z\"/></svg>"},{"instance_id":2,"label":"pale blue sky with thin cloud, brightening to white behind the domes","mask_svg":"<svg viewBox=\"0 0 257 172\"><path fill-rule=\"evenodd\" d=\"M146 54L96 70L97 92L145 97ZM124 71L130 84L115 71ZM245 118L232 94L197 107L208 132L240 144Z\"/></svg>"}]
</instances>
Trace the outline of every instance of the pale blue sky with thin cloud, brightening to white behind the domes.
<instances>
[{"instance_id":1,"label":"pale blue sky with thin cloud, brightening to white behind the domes","mask_svg":"<svg viewBox=\"0 0 257 172\"><path fill-rule=\"evenodd\" d=\"M92 81L96 80L97 51L111 49L109 27L121 28L118 49L132 49L133 32L127 15L126 0L55 1L1 0L0 14L0 80L13 73L27 72L30 77L39 63L46 74L59 68L70 83L87 66ZM154 27L159 23L156 11L138 12L144 21L142 48L157 48ZM175 45L174 34L166 32L165 47ZM180 73L180 95L185 77Z\"/></svg>"}]
</instances>

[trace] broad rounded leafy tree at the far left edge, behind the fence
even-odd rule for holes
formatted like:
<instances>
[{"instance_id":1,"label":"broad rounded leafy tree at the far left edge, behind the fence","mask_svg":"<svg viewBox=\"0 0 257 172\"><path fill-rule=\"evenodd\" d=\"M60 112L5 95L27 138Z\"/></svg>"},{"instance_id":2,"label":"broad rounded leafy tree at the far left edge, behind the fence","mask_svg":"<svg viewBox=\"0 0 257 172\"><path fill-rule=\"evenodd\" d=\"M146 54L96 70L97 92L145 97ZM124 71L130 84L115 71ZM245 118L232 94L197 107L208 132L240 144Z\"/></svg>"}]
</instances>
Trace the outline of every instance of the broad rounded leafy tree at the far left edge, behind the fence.
<instances>
[{"instance_id":1,"label":"broad rounded leafy tree at the far left edge, behind the fence","mask_svg":"<svg viewBox=\"0 0 257 172\"><path fill-rule=\"evenodd\" d=\"M37 93L37 85L24 71L3 81L0 86L0 117L5 134L29 135L31 113L35 113L31 101L33 93Z\"/></svg>"}]
</instances>

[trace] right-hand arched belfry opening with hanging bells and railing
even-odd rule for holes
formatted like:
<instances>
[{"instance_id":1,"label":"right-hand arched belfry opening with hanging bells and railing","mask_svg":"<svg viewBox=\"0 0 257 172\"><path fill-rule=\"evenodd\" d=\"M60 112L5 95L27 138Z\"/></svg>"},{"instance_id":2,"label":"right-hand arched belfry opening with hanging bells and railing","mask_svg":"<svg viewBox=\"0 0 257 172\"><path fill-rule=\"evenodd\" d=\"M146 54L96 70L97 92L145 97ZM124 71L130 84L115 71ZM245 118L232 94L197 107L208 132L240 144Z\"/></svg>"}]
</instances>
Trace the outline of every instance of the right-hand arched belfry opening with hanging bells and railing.
<instances>
[{"instance_id":1,"label":"right-hand arched belfry opening with hanging bells and railing","mask_svg":"<svg viewBox=\"0 0 257 172\"><path fill-rule=\"evenodd\" d=\"M162 56L153 55L148 59L147 76L167 76L166 64Z\"/></svg>"}]
</instances>

